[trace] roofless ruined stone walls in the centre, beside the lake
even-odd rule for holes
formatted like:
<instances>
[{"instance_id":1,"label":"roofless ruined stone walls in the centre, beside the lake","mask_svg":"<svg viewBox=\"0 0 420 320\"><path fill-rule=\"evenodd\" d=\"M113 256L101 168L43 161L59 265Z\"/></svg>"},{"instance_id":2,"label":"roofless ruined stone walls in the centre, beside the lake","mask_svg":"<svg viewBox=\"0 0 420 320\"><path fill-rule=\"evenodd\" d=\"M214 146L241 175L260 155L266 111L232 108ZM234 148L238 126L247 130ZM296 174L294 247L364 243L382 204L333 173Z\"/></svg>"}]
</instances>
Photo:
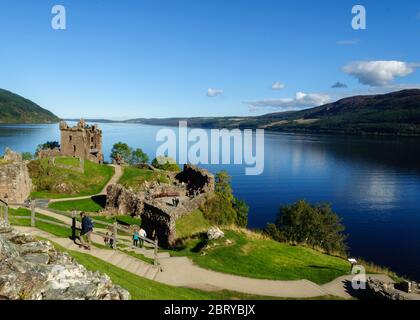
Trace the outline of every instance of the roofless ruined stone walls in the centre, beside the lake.
<instances>
[{"instance_id":1,"label":"roofless ruined stone walls in the centre, beside the lake","mask_svg":"<svg viewBox=\"0 0 420 320\"><path fill-rule=\"evenodd\" d=\"M106 212L141 216L149 238L171 246L176 241L176 220L198 209L213 195L214 176L207 170L185 165L172 184L148 185L144 192L134 192L122 185L107 189ZM179 199L174 206L172 200Z\"/></svg>"}]
</instances>

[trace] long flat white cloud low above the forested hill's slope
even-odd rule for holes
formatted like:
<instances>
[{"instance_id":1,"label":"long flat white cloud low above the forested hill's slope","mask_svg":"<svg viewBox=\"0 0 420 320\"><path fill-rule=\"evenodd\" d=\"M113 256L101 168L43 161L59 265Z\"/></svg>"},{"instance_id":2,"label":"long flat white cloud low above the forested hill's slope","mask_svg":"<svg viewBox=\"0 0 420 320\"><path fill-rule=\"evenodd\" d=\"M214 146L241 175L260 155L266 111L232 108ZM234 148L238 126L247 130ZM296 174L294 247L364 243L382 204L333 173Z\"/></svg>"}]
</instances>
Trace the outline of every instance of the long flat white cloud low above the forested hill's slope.
<instances>
[{"instance_id":1,"label":"long flat white cloud low above the forested hill's slope","mask_svg":"<svg viewBox=\"0 0 420 320\"><path fill-rule=\"evenodd\" d=\"M257 100L245 103L250 105L252 110L256 110L258 108L298 110L317 107L329 102L331 102L331 97L326 94L298 92L294 98Z\"/></svg>"}]
</instances>

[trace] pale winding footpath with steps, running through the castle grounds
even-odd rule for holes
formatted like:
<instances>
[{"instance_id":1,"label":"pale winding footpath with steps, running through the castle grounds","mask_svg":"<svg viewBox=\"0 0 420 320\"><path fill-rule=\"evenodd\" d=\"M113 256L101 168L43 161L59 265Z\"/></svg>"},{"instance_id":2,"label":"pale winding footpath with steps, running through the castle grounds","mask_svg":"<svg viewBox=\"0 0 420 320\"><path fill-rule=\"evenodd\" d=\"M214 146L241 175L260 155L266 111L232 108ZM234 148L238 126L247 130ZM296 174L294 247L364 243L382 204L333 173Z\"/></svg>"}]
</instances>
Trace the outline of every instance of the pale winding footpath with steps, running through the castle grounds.
<instances>
[{"instance_id":1,"label":"pale winding footpath with steps, running through the castle grounds","mask_svg":"<svg viewBox=\"0 0 420 320\"><path fill-rule=\"evenodd\" d=\"M122 168L120 166L114 166L114 168L114 176L99 195L106 194L106 188L111 184L117 183L122 176ZM91 197L92 196L54 199L50 200L50 203L89 199ZM70 218L48 210L47 208L37 207L36 211L51 218L58 219L69 226L71 225ZM16 227L16 229L24 233L46 238L68 250L94 256L138 276L171 286L196 288L205 291L229 290L279 298L316 298L331 295L343 299L351 299L354 295L351 289L353 275L339 277L324 285L318 285L305 279L295 281L252 279L204 269L194 265L187 257L171 257L167 252L158 254L159 266L155 267L152 264L119 250L92 247L91 251L86 251L80 249L79 246L69 238L57 237L32 227ZM103 238L99 235L93 235L92 240L94 243L103 243ZM122 239L124 244L127 244L129 241L128 238ZM153 250L147 248L134 249L127 247L124 248L124 250L143 254L145 257L149 258L153 257ZM386 275L367 275L367 277L392 282L392 279Z\"/></svg>"}]
</instances>

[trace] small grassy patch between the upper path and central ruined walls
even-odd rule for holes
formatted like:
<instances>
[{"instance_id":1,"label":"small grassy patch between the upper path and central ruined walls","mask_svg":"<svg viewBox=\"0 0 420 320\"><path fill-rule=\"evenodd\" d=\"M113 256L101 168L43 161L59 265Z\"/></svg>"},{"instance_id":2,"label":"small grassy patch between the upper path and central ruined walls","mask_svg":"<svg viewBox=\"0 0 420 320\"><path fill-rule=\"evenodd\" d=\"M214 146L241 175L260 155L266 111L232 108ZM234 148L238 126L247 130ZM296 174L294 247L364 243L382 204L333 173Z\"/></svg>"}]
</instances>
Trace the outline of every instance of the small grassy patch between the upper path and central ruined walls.
<instances>
[{"instance_id":1,"label":"small grassy patch between the upper path and central ruined walls","mask_svg":"<svg viewBox=\"0 0 420 320\"><path fill-rule=\"evenodd\" d=\"M142 190L145 181L157 181L160 183L169 183L165 174L148 169L139 169L136 167L124 167L124 173L118 183L126 188L132 188L136 191Z\"/></svg>"}]
</instances>

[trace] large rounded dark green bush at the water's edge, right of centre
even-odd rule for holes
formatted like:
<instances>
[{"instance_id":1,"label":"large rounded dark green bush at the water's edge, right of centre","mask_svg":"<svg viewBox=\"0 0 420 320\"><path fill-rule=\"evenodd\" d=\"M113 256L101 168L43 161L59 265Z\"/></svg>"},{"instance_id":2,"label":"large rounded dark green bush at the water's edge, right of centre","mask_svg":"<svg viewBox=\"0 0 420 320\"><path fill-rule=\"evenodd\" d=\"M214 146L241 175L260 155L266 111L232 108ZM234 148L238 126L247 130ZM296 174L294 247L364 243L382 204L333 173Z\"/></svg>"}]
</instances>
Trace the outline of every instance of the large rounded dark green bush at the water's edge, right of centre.
<instances>
[{"instance_id":1,"label":"large rounded dark green bush at the water's edge, right of centre","mask_svg":"<svg viewBox=\"0 0 420 320\"><path fill-rule=\"evenodd\" d=\"M289 241L322 248L328 253L345 253L346 235L341 219L329 204L312 206L304 200L280 209L266 232L277 241Z\"/></svg>"}]
</instances>

